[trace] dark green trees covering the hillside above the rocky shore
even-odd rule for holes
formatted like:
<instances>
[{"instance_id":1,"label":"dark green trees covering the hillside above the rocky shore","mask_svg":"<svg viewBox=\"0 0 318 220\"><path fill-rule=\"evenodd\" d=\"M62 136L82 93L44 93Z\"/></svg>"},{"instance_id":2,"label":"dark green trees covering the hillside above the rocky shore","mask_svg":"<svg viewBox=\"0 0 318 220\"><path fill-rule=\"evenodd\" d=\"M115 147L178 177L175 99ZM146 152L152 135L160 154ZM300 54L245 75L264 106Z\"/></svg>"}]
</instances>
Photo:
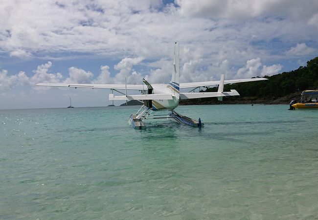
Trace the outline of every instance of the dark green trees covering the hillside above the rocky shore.
<instances>
[{"instance_id":1,"label":"dark green trees covering the hillside above the rocky shore","mask_svg":"<svg viewBox=\"0 0 318 220\"><path fill-rule=\"evenodd\" d=\"M269 80L225 85L224 90L236 89L242 97L278 98L301 92L305 89L318 89L318 57L307 62L307 66L283 72L273 76L265 76ZM218 88L207 88L205 91L217 91Z\"/></svg>"}]
</instances>

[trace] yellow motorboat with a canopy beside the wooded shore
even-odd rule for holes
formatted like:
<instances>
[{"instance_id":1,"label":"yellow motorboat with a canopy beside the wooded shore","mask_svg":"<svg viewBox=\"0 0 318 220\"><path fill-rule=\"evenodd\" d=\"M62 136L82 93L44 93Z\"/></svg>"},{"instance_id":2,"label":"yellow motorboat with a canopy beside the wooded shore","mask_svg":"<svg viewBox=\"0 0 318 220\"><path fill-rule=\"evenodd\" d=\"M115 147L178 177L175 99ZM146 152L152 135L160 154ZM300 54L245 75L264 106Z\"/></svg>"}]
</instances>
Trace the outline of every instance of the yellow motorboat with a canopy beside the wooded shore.
<instances>
[{"instance_id":1,"label":"yellow motorboat with a canopy beside the wooded shore","mask_svg":"<svg viewBox=\"0 0 318 220\"><path fill-rule=\"evenodd\" d=\"M318 89L304 90L300 94L300 103L292 100L289 104L290 110L295 109L318 109Z\"/></svg>"}]
</instances>

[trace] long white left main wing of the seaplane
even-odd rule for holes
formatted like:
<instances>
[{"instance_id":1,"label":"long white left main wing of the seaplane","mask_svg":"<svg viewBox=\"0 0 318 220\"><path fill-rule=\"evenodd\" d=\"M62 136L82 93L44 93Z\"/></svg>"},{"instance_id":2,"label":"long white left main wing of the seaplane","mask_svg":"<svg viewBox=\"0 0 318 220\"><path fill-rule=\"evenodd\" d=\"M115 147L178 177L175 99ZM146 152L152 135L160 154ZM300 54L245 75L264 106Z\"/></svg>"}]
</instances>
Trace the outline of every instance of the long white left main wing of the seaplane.
<instances>
[{"instance_id":1,"label":"long white left main wing of the seaplane","mask_svg":"<svg viewBox=\"0 0 318 220\"><path fill-rule=\"evenodd\" d=\"M43 87L72 87L72 88L109 88L109 89L126 89L127 90L146 90L147 87L138 84L56 84L56 83L38 83L35 86Z\"/></svg>"}]
</instances>

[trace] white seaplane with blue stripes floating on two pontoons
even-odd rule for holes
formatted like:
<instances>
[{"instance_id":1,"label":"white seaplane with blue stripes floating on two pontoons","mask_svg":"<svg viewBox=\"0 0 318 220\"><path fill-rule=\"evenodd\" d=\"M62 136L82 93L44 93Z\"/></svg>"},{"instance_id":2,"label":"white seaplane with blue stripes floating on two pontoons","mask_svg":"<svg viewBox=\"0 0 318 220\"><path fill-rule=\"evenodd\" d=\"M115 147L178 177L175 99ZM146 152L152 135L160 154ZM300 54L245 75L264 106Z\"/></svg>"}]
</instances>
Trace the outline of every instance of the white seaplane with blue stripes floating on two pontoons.
<instances>
[{"instance_id":1,"label":"white seaplane with blue stripes floating on two pontoons","mask_svg":"<svg viewBox=\"0 0 318 220\"><path fill-rule=\"evenodd\" d=\"M172 78L169 84L151 84L147 80L142 79L142 84L129 85L125 84L51 84L51 83L39 83L36 86L45 87L68 87L68 88L107 88L112 90L112 94L109 94L109 100L138 100L142 103L140 109L129 117L129 124L134 129L145 129L144 121L146 119L158 119L158 118L173 118L177 122L194 126L203 127L204 123L201 122L201 118L198 121L179 114L175 109L179 106L180 100L183 99L195 99L195 98L207 98L217 97L219 101L223 100L225 96L238 96L240 95L235 89L230 91L224 91L225 84L243 83L251 81L267 80L266 78L250 78L250 79L233 79L225 80L225 75L221 75L221 79L218 81L206 81L206 82L191 82L180 83L180 67L179 67L179 42L175 42L175 50L173 57L173 71ZM196 88L217 86L217 92L194 92ZM181 92L181 89L189 89L189 92ZM120 90L125 90L125 93ZM129 95L127 90L138 90L141 94ZM114 95L114 91L121 93L122 95ZM155 114L154 111L167 111L167 114ZM159 117L160 116L160 117Z\"/></svg>"}]
</instances>

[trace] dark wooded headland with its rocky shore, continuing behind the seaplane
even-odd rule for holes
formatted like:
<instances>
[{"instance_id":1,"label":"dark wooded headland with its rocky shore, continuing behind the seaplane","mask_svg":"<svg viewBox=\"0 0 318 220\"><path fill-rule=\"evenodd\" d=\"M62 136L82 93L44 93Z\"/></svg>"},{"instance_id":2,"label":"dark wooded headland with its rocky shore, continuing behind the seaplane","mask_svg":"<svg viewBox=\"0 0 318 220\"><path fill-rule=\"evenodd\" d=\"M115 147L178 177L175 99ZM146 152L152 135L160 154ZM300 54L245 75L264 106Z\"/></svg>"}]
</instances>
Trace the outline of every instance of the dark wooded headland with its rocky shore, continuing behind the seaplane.
<instances>
[{"instance_id":1,"label":"dark wooded headland with its rocky shore, continuing behind the seaplane","mask_svg":"<svg viewBox=\"0 0 318 220\"><path fill-rule=\"evenodd\" d=\"M269 80L224 85L224 91L236 89L240 97L224 97L222 102L216 98L185 99L180 100L180 105L289 104L293 99L299 101L303 90L318 89L318 57L308 61L307 66L264 77ZM217 87L203 87L200 92L217 90ZM130 102L132 105L142 105L136 100L132 101L128 102L129 105ZM125 105L126 103L122 104Z\"/></svg>"}]
</instances>

